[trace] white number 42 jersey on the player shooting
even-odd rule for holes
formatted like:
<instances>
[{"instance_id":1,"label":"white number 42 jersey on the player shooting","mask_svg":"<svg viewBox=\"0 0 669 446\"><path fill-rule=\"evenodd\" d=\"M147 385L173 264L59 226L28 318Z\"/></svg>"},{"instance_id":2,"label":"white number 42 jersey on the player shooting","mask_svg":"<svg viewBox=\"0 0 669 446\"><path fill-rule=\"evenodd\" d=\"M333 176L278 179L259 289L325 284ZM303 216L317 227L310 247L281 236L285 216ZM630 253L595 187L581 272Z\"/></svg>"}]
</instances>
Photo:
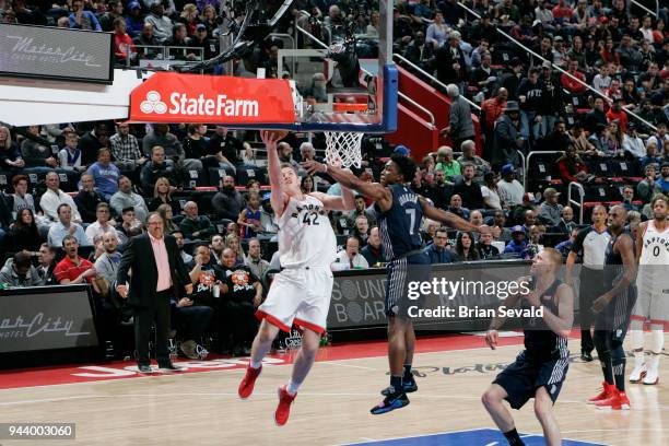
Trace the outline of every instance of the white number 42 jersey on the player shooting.
<instances>
[{"instance_id":1,"label":"white number 42 jersey on the player shooting","mask_svg":"<svg viewBox=\"0 0 669 446\"><path fill-rule=\"evenodd\" d=\"M282 268L327 267L337 256L337 238L322 202L309 195L289 198L278 219Z\"/></svg>"}]
</instances>

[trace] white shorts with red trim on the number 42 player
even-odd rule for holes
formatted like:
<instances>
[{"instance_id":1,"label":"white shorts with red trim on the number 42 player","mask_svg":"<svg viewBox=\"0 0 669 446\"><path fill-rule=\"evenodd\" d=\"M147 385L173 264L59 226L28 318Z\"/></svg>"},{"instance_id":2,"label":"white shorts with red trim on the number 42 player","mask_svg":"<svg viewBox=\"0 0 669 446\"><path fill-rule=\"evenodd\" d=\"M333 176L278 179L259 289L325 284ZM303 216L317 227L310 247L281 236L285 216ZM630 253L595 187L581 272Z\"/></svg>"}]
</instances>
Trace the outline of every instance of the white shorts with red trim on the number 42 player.
<instances>
[{"instance_id":1,"label":"white shorts with red trim on the number 42 player","mask_svg":"<svg viewBox=\"0 0 669 446\"><path fill-rule=\"evenodd\" d=\"M328 267L284 269L274 275L256 317L290 332L293 325L326 330L334 278Z\"/></svg>"}]
</instances>

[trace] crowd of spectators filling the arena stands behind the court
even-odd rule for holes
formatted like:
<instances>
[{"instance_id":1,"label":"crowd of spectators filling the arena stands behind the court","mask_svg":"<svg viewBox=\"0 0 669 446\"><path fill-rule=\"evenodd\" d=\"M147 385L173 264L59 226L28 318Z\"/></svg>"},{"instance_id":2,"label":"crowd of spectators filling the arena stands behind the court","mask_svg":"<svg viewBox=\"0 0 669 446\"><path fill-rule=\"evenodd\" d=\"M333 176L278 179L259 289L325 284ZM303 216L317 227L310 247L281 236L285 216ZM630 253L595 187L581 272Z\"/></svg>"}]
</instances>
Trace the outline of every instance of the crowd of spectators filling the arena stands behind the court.
<instances>
[{"instance_id":1,"label":"crowd of spectators filling the arena stands behind the court","mask_svg":"<svg viewBox=\"0 0 669 446\"><path fill-rule=\"evenodd\" d=\"M481 19L467 15L451 0L399 2L394 13L395 50L448 84L445 93L453 102L450 125L443 130L451 145L415 160L421 168L413 187L436 207L492 227L491 235L479 236L423 222L431 261L531 259L543 246L558 246L566 256L579 225L574 209L566 206L564 186L595 184L597 172L588 167L594 161L629 162L639 178L625 176L630 178L622 186L621 201L639 213L633 218L653 218L648 202L656 193L669 192L666 9L655 17L624 0L465 3ZM0 0L0 19L114 31L119 60L127 56L125 44L192 46L211 56L218 49L204 42L219 30L221 8L227 7L215 0ZM294 8L320 19L326 31L347 17L357 23L360 34L373 36L377 26L374 14L353 2L297 2ZM292 17L298 14L280 27L290 27ZM308 22L312 31L318 23ZM519 49L497 30L532 52ZM260 49L266 59L257 67L272 67L272 48ZM278 73L268 70L268 75ZM314 81L312 92L317 96L324 80ZM480 156L470 102L482 108ZM177 238L196 284L193 296L174 303L175 324L186 333L184 354L202 356L203 321L220 332L223 349L247 351L253 308L280 269L272 255L277 223L267 179L258 168L262 154L254 149L254 132L127 122L63 122L19 130L0 127L1 171L11 176L11 192L0 195L0 238L7 254L0 282L90 283L96 295L108 296L124 244L144 232L149 213L155 211L166 232ZM394 150L411 156L408 148ZM555 179L562 183L549 179L548 187L526 190L518 151L541 150L560 152ZM282 162L301 172L305 192L338 193L338 185L327 175L310 177L300 168L300 161L318 159L306 136L291 134L279 151ZM365 153L359 174L378 180L382 167L379 156ZM258 176L249 178L249 168ZM215 190L202 200L193 190L193 178ZM355 202L350 213L330 213L340 236L336 271L378 268L387 261L374 203L362 196ZM188 309L193 306L211 310Z\"/></svg>"}]
</instances>

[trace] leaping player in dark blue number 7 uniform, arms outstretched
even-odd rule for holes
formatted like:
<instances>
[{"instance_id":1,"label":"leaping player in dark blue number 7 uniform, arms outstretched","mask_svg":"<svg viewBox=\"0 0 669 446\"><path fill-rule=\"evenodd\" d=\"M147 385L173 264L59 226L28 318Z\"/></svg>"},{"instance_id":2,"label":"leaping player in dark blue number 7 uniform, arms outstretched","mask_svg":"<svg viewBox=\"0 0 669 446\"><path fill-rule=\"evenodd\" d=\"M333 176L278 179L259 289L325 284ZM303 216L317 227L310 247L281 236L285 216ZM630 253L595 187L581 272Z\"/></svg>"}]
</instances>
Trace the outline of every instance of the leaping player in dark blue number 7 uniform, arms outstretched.
<instances>
[{"instance_id":1,"label":"leaping player in dark blue number 7 uniform, arms outstretched","mask_svg":"<svg viewBox=\"0 0 669 446\"><path fill-rule=\"evenodd\" d=\"M388 259L386 315L388 316L388 362L390 386L382 394L384 401L372 408L373 414L386 413L409 404L407 392L418 386L411 372L415 333L407 314L409 280L431 280L430 259L421 249L420 225L423 216L441 221L460 231L489 232L459 216L435 208L409 186L415 177L413 160L394 155L382 172L379 183L366 183L348 171L316 162L304 163L309 173L328 173L342 186L375 200L384 255ZM427 273L427 277L425 277Z\"/></svg>"}]
</instances>

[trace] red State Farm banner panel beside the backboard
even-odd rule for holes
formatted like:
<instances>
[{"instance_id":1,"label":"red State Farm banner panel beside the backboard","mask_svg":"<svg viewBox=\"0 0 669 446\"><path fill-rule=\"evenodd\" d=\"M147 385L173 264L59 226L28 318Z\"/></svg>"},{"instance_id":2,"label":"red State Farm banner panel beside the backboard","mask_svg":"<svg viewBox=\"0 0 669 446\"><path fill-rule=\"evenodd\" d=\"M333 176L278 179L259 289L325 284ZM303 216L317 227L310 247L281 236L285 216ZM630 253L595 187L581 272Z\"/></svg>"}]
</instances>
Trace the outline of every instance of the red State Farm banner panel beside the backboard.
<instances>
[{"instance_id":1,"label":"red State Farm banner panel beside the backboard","mask_svg":"<svg viewBox=\"0 0 669 446\"><path fill-rule=\"evenodd\" d=\"M157 72L132 91L130 120L295 124L289 81Z\"/></svg>"}]
</instances>

